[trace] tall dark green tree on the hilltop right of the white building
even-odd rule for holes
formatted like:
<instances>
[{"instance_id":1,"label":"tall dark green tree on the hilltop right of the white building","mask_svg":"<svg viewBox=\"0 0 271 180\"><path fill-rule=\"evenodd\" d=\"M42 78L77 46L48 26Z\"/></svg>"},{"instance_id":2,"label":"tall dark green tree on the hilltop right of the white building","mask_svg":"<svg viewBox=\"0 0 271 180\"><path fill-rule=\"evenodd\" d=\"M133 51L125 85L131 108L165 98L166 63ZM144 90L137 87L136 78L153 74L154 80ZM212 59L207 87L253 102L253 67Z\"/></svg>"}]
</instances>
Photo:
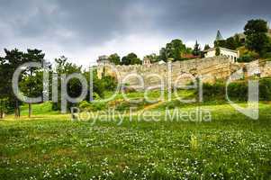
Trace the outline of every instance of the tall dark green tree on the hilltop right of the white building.
<instances>
[{"instance_id":1,"label":"tall dark green tree on the hilltop right of the white building","mask_svg":"<svg viewBox=\"0 0 271 180\"><path fill-rule=\"evenodd\" d=\"M269 43L266 35L268 31L266 21L261 19L249 20L244 27L244 31L247 35L246 47L262 55Z\"/></svg>"}]
</instances>

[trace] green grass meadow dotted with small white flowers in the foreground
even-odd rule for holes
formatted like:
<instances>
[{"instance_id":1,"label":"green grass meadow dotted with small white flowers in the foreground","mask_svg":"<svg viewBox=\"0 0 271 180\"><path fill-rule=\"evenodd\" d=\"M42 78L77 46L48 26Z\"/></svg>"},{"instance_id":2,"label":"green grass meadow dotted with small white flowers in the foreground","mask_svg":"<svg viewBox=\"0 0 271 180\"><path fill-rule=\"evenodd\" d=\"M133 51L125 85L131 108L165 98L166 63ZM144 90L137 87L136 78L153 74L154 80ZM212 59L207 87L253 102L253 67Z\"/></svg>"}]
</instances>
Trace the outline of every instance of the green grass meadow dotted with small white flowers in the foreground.
<instances>
[{"instance_id":1,"label":"green grass meadow dotted with small white flowers in the foreground","mask_svg":"<svg viewBox=\"0 0 271 180\"><path fill-rule=\"evenodd\" d=\"M257 121L227 104L203 108L212 121L0 121L0 178L270 178L270 104L260 104Z\"/></svg>"}]
</instances>

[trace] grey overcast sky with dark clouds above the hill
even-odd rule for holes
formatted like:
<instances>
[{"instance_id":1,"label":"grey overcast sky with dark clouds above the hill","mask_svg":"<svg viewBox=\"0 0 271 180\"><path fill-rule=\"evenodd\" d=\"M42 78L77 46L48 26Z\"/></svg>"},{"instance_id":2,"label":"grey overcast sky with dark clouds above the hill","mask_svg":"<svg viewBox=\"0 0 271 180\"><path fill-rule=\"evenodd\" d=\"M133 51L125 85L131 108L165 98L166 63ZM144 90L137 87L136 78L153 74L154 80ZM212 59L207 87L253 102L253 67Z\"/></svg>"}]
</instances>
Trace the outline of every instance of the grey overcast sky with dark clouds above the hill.
<instances>
[{"instance_id":1,"label":"grey overcast sky with dark clouds above the hill","mask_svg":"<svg viewBox=\"0 0 271 180\"><path fill-rule=\"evenodd\" d=\"M252 18L271 21L270 0L0 0L0 49L42 49L89 65L99 55L142 58L172 39L212 45Z\"/></svg>"}]
</instances>

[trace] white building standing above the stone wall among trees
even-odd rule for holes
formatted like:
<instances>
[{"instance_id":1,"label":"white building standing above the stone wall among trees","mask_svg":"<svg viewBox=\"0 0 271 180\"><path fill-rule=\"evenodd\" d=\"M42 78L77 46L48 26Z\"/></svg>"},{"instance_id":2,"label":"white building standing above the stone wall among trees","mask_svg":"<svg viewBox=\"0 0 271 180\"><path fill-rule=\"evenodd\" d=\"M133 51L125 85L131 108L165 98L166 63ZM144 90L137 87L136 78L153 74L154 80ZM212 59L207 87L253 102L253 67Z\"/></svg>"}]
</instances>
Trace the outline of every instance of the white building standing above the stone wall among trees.
<instances>
[{"instance_id":1,"label":"white building standing above the stone wall among trees","mask_svg":"<svg viewBox=\"0 0 271 180\"><path fill-rule=\"evenodd\" d=\"M231 50L225 48L220 49L220 56L224 56L230 58L232 62L236 62L237 58L239 58L239 50ZM205 58L212 58L215 57L216 48L204 50L204 57Z\"/></svg>"}]
</instances>

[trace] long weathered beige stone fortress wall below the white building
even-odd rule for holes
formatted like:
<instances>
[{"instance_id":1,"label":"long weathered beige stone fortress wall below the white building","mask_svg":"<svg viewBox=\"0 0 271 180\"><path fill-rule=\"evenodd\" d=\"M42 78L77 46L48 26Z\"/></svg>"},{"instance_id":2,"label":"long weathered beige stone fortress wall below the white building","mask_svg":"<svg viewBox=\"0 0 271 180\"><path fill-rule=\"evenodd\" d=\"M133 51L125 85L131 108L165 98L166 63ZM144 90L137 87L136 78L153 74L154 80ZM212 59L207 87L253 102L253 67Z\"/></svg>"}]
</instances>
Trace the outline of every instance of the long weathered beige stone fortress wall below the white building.
<instances>
[{"instance_id":1,"label":"long weathered beige stone fortress wall below the white building","mask_svg":"<svg viewBox=\"0 0 271 180\"><path fill-rule=\"evenodd\" d=\"M227 79L232 73L243 69L245 76L271 76L271 63L258 61L237 63L226 57L196 58L185 61L175 61L164 64L145 64L131 66L114 66L109 63L99 64L97 74L99 78L105 76L119 77L122 84L134 88L148 88L153 85L186 85L192 81L192 76L201 76L204 82L213 83L216 80ZM141 87L140 77L144 81Z\"/></svg>"}]
</instances>

